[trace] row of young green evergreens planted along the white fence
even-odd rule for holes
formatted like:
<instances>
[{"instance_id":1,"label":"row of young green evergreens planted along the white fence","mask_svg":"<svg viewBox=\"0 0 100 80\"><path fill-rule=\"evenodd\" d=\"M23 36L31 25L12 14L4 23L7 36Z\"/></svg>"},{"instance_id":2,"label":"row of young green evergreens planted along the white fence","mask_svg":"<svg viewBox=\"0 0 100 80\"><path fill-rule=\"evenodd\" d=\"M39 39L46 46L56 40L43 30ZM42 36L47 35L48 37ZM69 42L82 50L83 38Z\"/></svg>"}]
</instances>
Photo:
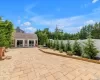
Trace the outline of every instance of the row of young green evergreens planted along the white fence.
<instances>
[{"instance_id":1,"label":"row of young green evergreens planted along the white fence","mask_svg":"<svg viewBox=\"0 0 100 80\"><path fill-rule=\"evenodd\" d=\"M94 59L99 52L94 46L94 42L91 38L88 38L87 42L84 44L84 46L81 46L77 40L75 40L73 44L70 43L70 40L67 40L66 44L59 40L47 40L46 42L48 48L59 50L61 53L66 52L68 55L77 55Z\"/></svg>"}]
</instances>

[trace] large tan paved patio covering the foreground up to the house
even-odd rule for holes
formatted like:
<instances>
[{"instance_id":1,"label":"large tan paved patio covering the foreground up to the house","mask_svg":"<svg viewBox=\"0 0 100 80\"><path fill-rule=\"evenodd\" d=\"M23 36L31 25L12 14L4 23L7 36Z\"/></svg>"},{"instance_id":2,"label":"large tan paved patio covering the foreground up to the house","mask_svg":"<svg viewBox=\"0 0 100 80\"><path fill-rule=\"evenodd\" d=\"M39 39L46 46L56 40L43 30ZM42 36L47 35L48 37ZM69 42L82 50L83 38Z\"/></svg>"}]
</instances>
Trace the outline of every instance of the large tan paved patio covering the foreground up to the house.
<instances>
[{"instance_id":1,"label":"large tan paved patio covering the foreground up to the house","mask_svg":"<svg viewBox=\"0 0 100 80\"><path fill-rule=\"evenodd\" d=\"M38 48L12 49L0 61L0 80L100 80L100 64L45 54Z\"/></svg>"}]
</instances>

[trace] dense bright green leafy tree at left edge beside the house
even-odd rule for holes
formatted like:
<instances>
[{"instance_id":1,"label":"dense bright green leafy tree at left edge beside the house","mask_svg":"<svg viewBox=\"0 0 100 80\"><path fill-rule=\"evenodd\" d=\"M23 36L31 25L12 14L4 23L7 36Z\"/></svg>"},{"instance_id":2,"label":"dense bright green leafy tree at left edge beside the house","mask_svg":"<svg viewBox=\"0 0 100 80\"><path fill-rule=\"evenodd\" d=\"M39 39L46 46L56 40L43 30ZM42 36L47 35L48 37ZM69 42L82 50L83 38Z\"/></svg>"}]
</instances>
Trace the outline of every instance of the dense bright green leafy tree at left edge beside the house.
<instances>
[{"instance_id":1,"label":"dense bright green leafy tree at left edge beside the house","mask_svg":"<svg viewBox=\"0 0 100 80\"><path fill-rule=\"evenodd\" d=\"M11 47L13 31L12 22L0 19L0 47Z\"/></svg>"}]
</instances>

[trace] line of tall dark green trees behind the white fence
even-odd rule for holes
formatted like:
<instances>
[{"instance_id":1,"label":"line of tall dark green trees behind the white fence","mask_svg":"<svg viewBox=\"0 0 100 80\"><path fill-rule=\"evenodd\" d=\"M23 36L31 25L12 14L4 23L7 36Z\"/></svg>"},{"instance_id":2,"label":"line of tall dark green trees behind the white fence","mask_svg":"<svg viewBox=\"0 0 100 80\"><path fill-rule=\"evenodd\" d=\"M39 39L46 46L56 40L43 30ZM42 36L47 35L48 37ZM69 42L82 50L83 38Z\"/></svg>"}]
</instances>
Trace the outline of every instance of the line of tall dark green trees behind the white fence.
<instances>
[{"instance_id":1,"label":"line of tall dark green trees behind the white fence","mask_svg":"<svg viewBox=\"0 0 100 80\"><path fill-rule=\"evenodd\" d=\"M100 22L95 24L89 24L83 26L82 29L74 34L63 32L63 30L56 27L54 32L50 32L49 28L44 30L37 30L35 32L39 38L39 44L44 44L47 39L53 40L76 40L76 39L87 39L89 34L93 39L100 39Z\"/></svg>"}]
</instances>

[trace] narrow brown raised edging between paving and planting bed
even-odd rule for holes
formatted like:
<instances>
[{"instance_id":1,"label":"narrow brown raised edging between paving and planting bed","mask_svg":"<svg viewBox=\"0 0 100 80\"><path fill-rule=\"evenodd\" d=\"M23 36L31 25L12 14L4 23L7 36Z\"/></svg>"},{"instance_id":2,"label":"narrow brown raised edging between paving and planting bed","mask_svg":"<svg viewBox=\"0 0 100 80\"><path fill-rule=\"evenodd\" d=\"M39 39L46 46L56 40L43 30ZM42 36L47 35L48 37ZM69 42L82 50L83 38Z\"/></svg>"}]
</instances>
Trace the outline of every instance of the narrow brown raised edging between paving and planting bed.
<instances>
[{"instance_id":1,"label":"narrow brown raised edging between paving and planting bed","mask_svg":"<svg viewBox=\"0 0 100 80\"><path fill-rule=\"evenodd\" d=\"M82 57L74 57L74 56L69 56L69 55L52 53L52 52L44 51L43 49L40 49L40 48L39 48L39 50L44 52L44 53L50 54L50 55L62 56L62 57L67 57L67 58L72 58L72 59L77 59L77 60L82 60L82 61L87 61L87 62L92 62L92 63L100 64L100 61L97 61L97 60L92 60L92 59L87 59L87 58L82 58Z\"/></svg>"}]
</instances>

